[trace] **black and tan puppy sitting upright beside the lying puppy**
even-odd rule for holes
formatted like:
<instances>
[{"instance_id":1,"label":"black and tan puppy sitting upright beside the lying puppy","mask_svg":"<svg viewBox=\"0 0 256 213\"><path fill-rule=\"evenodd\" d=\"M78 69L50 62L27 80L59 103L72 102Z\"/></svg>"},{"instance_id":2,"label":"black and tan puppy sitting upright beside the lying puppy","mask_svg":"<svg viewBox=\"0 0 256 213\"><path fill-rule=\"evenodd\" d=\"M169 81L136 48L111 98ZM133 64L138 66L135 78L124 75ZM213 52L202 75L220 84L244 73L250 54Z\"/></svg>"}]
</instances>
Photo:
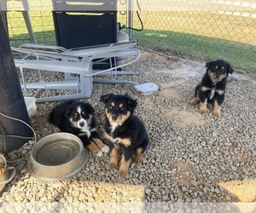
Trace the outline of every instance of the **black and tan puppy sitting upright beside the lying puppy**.
<instances>
[{"instance_id":1,"label":"black and tan puppy sitting upright beside the lying puppy","mask_svg":"<svg viewBox=\"0 0 256 213\"><path fill-rule=\"evenodd\" d=\"M148 132L136 115L134 109L137 101L129 95L102 95L105 104L105 136L109 142L109 167L118 166L119 154L123 153L119 168L119 175L126 176L135 154L134 161L142 161L143 153L148 147Z\"/></svg>"}]
</instances>

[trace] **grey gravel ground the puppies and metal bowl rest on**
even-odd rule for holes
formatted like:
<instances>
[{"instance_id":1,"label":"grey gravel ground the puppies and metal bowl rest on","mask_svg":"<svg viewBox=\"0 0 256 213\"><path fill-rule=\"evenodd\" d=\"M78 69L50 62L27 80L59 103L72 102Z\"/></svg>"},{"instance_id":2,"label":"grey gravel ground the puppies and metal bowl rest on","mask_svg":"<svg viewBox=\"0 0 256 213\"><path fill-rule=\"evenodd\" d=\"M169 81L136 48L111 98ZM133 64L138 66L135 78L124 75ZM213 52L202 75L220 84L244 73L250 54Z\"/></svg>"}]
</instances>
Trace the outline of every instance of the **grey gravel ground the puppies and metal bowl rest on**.
<instances>
[{"instance_id":1,"label":"grey gravel ground the puppies and metal bowl rest on","mask_svg":"<svg viewBox=\"0 0 256 213\"><path fill-rule=\"evenodd\" d=\"M205 63L142 49L141 59L129 66L139 72L122 76L138 83L156 83L154 95L137 95L128 84L95 84L90 102L102 132L100 95L128 92L137 99L151 146L142 164L131 164L130 174L118 176L108 167L109 156L90 153L79 174L62 181L40 181L26 168L27 158L15 164L17 173L2 192L0 202L256 202L256 79L230 75L221 116L215 118L192 106L195 85ZM126 68L126 69L128 69ZM58 130L48 124L49 110L57 104L37 104L31 117L38 139ZM30 153L33 143L11 153Z\"/></svg>"}]
</instances>

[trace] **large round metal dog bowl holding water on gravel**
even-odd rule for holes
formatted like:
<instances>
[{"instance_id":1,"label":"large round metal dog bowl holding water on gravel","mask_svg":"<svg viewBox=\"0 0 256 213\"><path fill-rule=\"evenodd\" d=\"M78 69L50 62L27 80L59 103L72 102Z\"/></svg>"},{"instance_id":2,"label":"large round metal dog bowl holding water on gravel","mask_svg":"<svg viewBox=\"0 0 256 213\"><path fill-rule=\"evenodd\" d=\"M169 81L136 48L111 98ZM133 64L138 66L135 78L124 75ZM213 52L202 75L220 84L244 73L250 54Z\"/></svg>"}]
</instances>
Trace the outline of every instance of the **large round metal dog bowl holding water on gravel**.
<instances>
[{"instance_id":1,"label":"large round metal dog bowl holding water on gravel","mask_svg":"<svg viewBox=\"0 0 256 213\"><path fill-rule=\"evenodd\" d=\"M38 179L56 181L79 173L88 158L89 153L79 137L69 133L55 133L35 144L27 168Z\"/></svg>"}]
</instances>

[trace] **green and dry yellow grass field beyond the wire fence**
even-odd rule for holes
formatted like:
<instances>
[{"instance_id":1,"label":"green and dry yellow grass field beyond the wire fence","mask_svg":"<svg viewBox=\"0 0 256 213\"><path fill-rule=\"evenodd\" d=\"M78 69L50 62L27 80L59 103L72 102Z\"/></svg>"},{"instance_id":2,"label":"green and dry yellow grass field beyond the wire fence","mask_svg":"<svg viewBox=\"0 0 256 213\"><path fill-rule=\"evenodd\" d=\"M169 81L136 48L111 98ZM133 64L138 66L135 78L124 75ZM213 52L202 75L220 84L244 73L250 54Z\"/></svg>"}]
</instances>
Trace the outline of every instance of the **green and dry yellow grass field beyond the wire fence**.
<instances>
[{"instance_id":1,"label":"green and dry yellow grass field beyond the wire fence","mask_svg":"<svg viewBox=\"0 0 256 213\"><path fill-rule=\"evenodd\" d=\"M247 11L255 14L255 12ZM10 42L29 42L22 16L9 14ZM55 32L50 11L30 12L38 43L55 45ZM43 17L43 18L42 18ZM133 32L133 38L148 48L194 60L228 60L237 72L256 74L256 21L250 16L237 16L214 11L142 12L144 30ZM118 17L125 24L125 17ZM16 26L16 28L15 28ZM140 28L134 16L134 27Z\"/></svg>"}]
</instances>

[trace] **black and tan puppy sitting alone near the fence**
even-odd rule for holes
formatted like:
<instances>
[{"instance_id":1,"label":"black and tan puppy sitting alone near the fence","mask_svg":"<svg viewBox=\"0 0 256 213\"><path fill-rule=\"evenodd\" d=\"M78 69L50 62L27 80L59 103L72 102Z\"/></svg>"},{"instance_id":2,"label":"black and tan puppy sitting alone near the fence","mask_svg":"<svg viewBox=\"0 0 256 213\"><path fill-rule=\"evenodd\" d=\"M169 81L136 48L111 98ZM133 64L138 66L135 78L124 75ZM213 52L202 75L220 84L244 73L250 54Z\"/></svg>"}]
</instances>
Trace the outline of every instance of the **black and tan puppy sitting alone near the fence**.
<instances>
[{"instance_id":1,"label":"black and tan puppy sitting alone near the fence","mask_svg":"<svg viewBox=\"0 0 256 213\"><path fill-rule=\"evenodd\" d=\"M192 104L200 102L199 112L207 112L207 103L213 104L213 115L220 116L220 106L224 101L225 88L233 68L225 60L207 62L207 72L195 88L195 99Z\"/></svg>"}]
</instances>

